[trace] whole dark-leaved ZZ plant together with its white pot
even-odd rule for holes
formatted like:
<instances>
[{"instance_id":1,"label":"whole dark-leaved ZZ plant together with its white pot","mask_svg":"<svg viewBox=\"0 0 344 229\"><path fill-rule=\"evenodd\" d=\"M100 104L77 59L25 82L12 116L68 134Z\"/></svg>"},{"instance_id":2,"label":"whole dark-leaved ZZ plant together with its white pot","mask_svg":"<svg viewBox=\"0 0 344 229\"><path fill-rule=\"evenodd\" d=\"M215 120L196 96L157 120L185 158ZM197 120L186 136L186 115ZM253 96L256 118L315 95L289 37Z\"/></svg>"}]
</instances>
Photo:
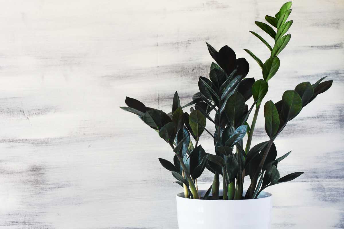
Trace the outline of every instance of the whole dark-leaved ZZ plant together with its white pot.
<instances>
[{"instance_id":1,"label":"whole dark-leaved ZZ plant together with its white pot","mask_svg":"<svg viewBox=\"0 0 344 229\"><path fill-rule=\"evenodd\" d=\"M274 39L273 46L250 31L270 51L270 58L263 63L250 50L244 49L261 67L262 79L246 78L248 62L245 58L237 59L233 49L227 45L217 51L207 44L217 64L211 64L209 78L199 78L200 91L194 94L190 103L182 106L175 92L170 113L146 107L129 97L125 100L128 106L121 107L138 115L172 148L173 162L162 158L159 161L171 171L175 183L184 190L177 195L180 229L269 228L271 194L263 190L291 181L303 173L279 174L279 162L291 151L277 158L274 140L308 103L331 87L332 80L323 81L323 77L314 84L302 82L294 90L285 91L280 101L267 101L263 110L268 138L251 147L261 103L268 92L268 82L280 67L278 54L291 38L290 34L285 35L293 23L287 21L291 4L284 3L275 16L265 16L275 29L266 23L255 22ZM248 106L246 102L251 97L253 104ZM189 106L190 114L183 111ZM249 125L247 120L254 108ZM207 122L214 124L214 133L206 128ZM199 144L205 132L214 139L215 154L205 152ZM248 136L246 144L243 142L245 135ZM198 190L197 179L204 169L214 173L214 180L208 190ZM250 179L247 191L243 187L245 179ZM223 190L219 188L220 183Z\"/></svg>"}]
</instances>

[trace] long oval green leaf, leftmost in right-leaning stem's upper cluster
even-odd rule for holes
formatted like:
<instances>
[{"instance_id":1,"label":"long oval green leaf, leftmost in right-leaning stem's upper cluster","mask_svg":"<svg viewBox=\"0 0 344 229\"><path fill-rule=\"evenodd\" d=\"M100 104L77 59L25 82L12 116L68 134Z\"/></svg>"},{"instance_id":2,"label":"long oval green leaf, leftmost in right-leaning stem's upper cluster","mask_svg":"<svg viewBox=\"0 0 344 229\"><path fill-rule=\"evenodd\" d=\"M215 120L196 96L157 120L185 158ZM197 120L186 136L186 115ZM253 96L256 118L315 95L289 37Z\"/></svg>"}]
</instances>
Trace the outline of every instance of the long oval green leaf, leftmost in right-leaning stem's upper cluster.
<instances>
[{"instance_id":1,"label":"long oval green leaf, leftmost in right-leaning stem's upper cluster","mask_svg":"<svg viewBox=\"0 0 344 229\"><path fill-rule=\"evenodd\" d=\"M275 104L270 100L264 105L265 130L271 138L277 134L279 127L279 115Z\"/></svg>"}]
</instances>

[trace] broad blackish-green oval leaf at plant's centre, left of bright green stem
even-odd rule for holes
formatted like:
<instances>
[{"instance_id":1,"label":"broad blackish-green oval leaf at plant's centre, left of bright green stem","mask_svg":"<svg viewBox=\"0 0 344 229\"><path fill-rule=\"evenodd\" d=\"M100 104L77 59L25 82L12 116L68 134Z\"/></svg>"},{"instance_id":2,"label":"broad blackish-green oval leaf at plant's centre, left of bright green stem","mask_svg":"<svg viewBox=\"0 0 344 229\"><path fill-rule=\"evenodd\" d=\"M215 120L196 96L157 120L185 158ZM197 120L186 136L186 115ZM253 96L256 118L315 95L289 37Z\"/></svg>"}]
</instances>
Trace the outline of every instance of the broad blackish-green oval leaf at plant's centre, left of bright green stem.
<instances>
[{"instance_id":1,"label":"broad blackish-green oval leaf at plant's centre, left of bright green stem","mask_svg":"<svg viewBox=\"0 0 344 229\"><path fill-rule=\"evenodd\" d=\"M244 115L244 110L245 98L239 92L234 92L234 94L228 98L225 107L225 112L230 124L234 127L239 124Z\"/></svg>"}]
</instances>

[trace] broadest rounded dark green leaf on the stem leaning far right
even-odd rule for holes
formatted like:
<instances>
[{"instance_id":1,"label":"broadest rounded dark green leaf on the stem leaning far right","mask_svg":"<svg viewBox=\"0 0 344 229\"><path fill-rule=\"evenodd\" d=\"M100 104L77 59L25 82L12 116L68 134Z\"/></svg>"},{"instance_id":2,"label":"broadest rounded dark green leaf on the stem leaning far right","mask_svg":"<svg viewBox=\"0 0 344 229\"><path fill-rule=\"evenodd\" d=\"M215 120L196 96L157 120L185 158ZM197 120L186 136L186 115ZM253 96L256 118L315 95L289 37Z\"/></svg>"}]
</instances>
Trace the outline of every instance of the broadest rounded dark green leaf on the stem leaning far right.
<instances>
[{"instance_id":1,"label":"broadest rounded dark green leaf on the stem leaning far right","mask_svg":"<svg viewBox=\"0 0 344 229\"><path fill-rule=\"evenodd\" d=\"M283 120L290 121L302 109L302 100L296 91L285 91L282 96Z\"/></svg>"}]
</instances>

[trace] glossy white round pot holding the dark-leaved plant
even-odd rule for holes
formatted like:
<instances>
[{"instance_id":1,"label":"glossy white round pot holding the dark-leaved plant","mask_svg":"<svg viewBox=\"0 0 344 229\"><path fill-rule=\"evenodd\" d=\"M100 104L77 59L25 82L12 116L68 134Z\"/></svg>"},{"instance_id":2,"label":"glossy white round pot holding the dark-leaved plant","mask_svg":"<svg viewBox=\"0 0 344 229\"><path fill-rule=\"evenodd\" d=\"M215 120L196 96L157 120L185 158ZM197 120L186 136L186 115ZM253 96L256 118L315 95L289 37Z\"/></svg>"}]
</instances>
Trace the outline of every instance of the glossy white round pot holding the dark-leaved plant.
<instances>
[{"instance_id":1,"label":"glossy white round pot holding the dark-leaved plant","mask_svg":"<svg viewBox=\"0 0 344 229\"><path fill-rule=\"evenodd\" d=\"M199 193L203 196L206 190ZM222 190L219 195L222 196ZM179 229L270 229L271 210L268 192L261 192L257 199L234 201L186 199L184 193L177 195Z\"/></svg>"}]
</instances>

